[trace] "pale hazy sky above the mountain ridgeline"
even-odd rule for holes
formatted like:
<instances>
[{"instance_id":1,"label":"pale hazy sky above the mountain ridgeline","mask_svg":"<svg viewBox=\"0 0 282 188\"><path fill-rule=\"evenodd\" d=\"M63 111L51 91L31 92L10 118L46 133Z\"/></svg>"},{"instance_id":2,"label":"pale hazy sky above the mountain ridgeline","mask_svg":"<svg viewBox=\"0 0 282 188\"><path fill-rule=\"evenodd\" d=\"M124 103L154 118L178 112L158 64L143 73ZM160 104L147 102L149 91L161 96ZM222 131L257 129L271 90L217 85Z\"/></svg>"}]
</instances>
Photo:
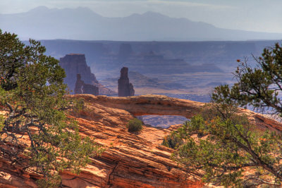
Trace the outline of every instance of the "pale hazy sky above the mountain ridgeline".
<instances>
[{"instance_id":1,"label":"pale hazy sky above the mountain ridgeline","mask_svg":"<svg viewBox=\"0 0 282 188\"><path fill-rule=\"evenodd\" d=\"M0 13L26 12L37 6L82 6L106 17L154 11L221 28L282 33L282 0L0 0Z\"/></svg>"}]
</instances>

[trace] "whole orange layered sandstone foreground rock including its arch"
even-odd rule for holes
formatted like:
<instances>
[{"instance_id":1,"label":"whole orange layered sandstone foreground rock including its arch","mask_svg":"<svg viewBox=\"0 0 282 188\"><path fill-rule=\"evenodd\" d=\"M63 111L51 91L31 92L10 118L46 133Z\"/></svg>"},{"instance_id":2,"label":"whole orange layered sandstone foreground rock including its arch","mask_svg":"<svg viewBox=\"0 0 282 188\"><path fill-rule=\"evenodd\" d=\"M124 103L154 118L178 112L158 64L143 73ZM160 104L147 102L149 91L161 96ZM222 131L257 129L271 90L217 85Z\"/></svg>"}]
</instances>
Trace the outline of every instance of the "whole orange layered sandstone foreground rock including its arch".
<instances>
[{"instance_id":1,"label":"whole orange layered sandstone foreground rock including its arch","mask_svg":"<svg viewBox=\"0 0 282 188\"><path fill-rule=\"evenodd\" d=\"M182 115L191 118L199 113L204 103L175 99L160 95L129 97L93 96L78 94L68 97L85 99L85 109L73 115L78 121L80 134L93 137L106 151L79 175L61 173L64 187L204 187L197 175L171 161L173 152L161 146L169 129L145 127L140 134L126 130L128 120L135 115ZM282 124L249 110L250 121L260 130L282 130ZM2 112L3 113L3 112ZM180 126L180 125L178 125ZM28 140L25 140L28 142ZM11 166L0 158L0 187L36 187L39 175Z\"/></svg>"}]
</instances>

